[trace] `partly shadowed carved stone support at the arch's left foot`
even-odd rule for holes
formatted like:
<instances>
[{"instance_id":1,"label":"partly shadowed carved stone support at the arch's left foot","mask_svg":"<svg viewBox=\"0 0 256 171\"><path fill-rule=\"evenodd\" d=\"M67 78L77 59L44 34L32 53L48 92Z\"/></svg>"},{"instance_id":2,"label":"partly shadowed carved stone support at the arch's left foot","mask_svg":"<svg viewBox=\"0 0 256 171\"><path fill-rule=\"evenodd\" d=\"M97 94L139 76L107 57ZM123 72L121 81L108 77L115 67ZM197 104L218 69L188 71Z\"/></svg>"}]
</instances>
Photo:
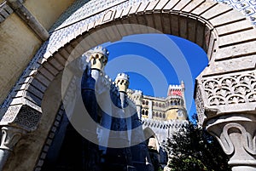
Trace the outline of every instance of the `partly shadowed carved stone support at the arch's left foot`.
<instances>
[{"instance_id":1,"label":"partly shadowed carved stone support at the arch's left foot","mask_svg":"<svg viewBox=\"0 0 256 171\"><path fill-rule=\"evenodd\" d=\"M38 126L42 113L28 105L9 106L1 119L0 170L3 169L15 145Z\"/></svg>"}]
</instances>

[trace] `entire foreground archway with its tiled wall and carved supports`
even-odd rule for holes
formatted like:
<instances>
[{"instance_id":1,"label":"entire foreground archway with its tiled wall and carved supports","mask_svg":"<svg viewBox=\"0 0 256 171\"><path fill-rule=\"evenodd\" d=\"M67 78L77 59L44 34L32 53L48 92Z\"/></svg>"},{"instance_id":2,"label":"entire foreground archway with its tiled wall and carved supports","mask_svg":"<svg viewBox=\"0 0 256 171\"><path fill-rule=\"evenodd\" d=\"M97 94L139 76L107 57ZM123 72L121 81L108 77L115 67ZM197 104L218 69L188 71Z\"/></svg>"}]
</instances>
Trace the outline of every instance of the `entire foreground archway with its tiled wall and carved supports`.
<instances>
[{"instance_id":1,"label":"entire foreground archway with its tiled wall and carved supports","mask_svg":"<svg viewBox=\"0 0 256 171\"><path fill-rule=\"evenodd\" d=\"M154 32L183 37L207 52L209 65L195 85L200 123L218 139L234 171L256 170L256 29L231 5L212 0L0 2L2 170L37 170L44 162L63 111L61 74L67 61L98 44ZM253 2L244 1L255 7Z\"/></svg>"}]
</instances>

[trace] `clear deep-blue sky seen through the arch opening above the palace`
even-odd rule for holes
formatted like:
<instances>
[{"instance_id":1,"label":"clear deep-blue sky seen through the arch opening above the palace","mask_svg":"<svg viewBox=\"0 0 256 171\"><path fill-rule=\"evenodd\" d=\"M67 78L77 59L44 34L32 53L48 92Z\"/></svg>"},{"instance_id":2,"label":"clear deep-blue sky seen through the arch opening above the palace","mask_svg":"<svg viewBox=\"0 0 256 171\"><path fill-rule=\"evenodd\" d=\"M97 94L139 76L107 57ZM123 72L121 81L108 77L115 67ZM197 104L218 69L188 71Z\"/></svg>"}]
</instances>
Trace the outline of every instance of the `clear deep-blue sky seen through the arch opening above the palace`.
<instances>
[{"instance_id":1,"label":"clear deep-blue sky seen through the arch opening above the palace","mask_svg":"<svg viewBox=\"0 0 256 171\"><path fill-rule=\"evenodd\" d=\"M165 34L140 34L104 43L109 59L106 73L113 79L119 72L130 76L131 89L166 97L169 84L185 83L189 116L195 113L195 77L207 66L207 54L195 43Z\"/></svg>"}]
</instances>

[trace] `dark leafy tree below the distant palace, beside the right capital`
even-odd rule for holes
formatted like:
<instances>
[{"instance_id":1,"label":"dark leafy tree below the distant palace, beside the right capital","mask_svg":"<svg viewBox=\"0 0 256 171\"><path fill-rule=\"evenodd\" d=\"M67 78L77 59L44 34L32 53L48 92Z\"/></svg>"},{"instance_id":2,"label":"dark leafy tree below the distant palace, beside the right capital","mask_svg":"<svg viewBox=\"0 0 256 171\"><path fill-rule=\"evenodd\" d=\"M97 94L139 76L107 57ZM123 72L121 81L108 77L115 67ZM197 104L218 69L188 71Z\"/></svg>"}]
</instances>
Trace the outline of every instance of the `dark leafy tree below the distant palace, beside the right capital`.
<instances>
[{"instance_id":1,"label":"dark leafy tree below the distant palace, beside the right capital","mask_svg":"<svg viewBox=\"0 0 256 171\"><path fill-rule=\"evenodd\" d=\"M172 171L229 171L229 158L225 155L218 140L197 126L196 115L193 123L180 128L166 141L170 155L169 167Z\"/></svg>"}]
</instances>

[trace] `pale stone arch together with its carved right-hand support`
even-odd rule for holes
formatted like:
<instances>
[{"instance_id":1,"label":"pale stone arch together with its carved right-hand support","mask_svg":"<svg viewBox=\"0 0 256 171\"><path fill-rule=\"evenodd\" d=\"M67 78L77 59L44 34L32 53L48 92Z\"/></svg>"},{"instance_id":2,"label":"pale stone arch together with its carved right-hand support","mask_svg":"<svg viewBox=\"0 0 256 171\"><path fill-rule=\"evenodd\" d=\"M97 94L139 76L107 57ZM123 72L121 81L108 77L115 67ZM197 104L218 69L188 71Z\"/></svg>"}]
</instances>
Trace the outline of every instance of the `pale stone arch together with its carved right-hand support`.
<instances>
[{"instance_id":1,"label":"pale stone arch together with its carved right-hand support","mask_svg":"<svg viewBox=\"0 0 256 171\"><path fill-rule=\"evenodd\" d=\"M126 27L125 24L141 27ZM44 92L61 73L67 59L70 56L78 58L97 44L153 31L144 30L143 26L189 39L206 50L209 66L197 78L195 88L200 123L218 137L231 156L230 164L235 168L236 165L238 168L250 165L248 169L255 170L256 30L235 9L208 0L137 3L129 8L106 10L100 18L92 18L90 23L78 21L54 31L16 84L12 99L6 102L8 109L1 125L15 126L26 132L35 130L36 133L42 124L39 118L44 118L42 100L49 98ZM91 37L95 31L101 34ZM84 39L85 43L81 44ZM27 113L38 116L35 117L38 119L24 119ZM252 126L247 128L245 124ZM234 128L240 131L234 131ZM49 132L49 129L45 131ZM19 142L6 145L13 136L8 130L6 132L7 139L3 137L2 147L5 145L11 149ZM237 143L237 140L242 142ZM41 147L43 145L41 142ZM237 151L242 151L244 156L234 155ZM242 162L244 160L249 162Z\"/></svg>"}]
</instances>

